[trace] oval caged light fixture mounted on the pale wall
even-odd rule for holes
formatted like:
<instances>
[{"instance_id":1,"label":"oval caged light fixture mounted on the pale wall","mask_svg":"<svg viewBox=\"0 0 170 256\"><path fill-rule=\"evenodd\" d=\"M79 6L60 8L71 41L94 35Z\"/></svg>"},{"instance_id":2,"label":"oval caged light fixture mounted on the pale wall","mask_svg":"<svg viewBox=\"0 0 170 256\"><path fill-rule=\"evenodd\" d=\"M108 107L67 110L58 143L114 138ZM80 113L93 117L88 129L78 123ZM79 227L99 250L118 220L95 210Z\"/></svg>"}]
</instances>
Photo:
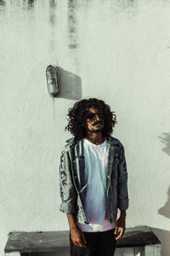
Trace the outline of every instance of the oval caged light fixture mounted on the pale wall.
<instances>
[{"instance_id":1,"label":"oval caged light fixture mounted on the pale wall","mask_svg":"<svg viewBox=\"0 0 170 256\"><path fill-rule=\"evenodd\" d=\"M48 93L50 96L57 96L59 94L59 68L54 65L49 65L46 68L46 78Z\"/></svg>"}]
</instances>

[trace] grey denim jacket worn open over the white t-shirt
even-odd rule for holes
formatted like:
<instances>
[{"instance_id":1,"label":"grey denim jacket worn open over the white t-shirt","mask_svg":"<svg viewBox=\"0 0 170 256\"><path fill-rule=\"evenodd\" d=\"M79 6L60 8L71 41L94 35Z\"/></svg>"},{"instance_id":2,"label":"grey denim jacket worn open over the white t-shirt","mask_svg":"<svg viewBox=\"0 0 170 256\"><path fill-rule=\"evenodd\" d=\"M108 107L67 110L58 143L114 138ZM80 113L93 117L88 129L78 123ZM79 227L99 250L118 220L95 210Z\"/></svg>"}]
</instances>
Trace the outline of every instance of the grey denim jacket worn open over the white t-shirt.
<instances>
[{"instance_id":1,"label":"grey denim jacket worn open over the white t-shirt","mask_svg":"<svg viewBox=\"0 0 170 256\"><path fill-rule=\"evenodd\" d=\"M127 210L127 164L124 147L115 137L106 137L109 145L106 177L106 212L110 222L116 220L117 208ZM77 222L88 224L83 210L87 183L84 180L85 161L83 140L75 137L66 141L60 156L59 187L62 203L59 211L75 214Z\"/></svg>"}]
</instances>

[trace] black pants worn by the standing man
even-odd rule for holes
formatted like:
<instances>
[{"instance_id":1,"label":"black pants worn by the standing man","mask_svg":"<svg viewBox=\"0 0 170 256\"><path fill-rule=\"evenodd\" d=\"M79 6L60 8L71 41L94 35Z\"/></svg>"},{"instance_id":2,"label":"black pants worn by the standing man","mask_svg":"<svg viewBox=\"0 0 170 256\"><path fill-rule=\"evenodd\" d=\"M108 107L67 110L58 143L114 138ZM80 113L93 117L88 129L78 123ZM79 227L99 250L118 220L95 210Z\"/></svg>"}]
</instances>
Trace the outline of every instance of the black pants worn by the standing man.
<instances>
[{"instance_id":1,"label":"black pants worn by the standing man","mask_svg":"<svg viewBox=\"0 0 170 256\"><path fill-rule=\"evenodd\" d=\"M115 229L104 232L83 232L87 247L76 247L71 241L71 256L113 256L116 250Z\"/></svg>"}]
</instances>

